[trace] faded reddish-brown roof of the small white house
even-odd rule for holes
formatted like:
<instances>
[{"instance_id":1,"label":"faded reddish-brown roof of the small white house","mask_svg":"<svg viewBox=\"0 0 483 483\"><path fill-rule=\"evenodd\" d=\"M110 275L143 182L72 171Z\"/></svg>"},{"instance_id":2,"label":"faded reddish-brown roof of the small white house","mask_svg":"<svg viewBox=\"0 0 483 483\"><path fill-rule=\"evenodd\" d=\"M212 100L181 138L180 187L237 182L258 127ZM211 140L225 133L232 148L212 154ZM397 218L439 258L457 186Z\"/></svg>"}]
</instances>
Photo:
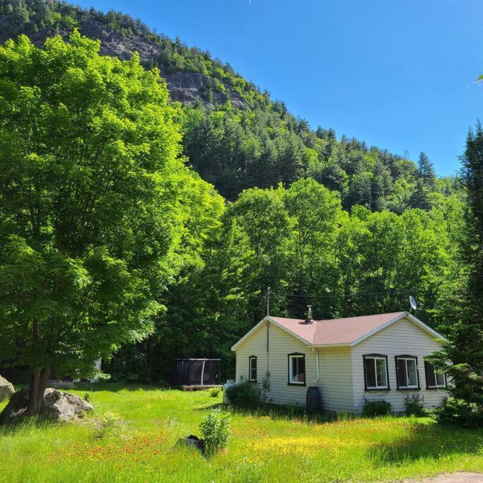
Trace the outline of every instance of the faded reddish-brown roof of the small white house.
<instances>
[{"instance_id":1,"label":"faded reddish-brown roof of the small white house","mask_svg":"<svg viewBox=\"0 0 483 483\"><path fill-rule=\"evenodd\" d=\"M351 344L357 339L370 334L385 323L405 315L405 312L383 313L378 315L363 315L343 319L313 320L287 319L270 317L271 320L293 332L301 339L313 345Z\"/></svg>"}]
</instances>

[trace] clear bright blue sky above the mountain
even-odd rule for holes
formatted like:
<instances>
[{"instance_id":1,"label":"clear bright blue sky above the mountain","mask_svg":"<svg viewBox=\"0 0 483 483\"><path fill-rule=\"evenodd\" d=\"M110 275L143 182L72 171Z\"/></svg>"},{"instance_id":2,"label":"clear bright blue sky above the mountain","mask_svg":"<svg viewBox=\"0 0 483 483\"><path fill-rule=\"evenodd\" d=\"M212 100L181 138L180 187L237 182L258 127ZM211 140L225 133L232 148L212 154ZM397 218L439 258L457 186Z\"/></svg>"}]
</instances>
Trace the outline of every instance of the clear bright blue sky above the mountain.
<instances>
[{"instance_id":1,"label":"clear bright blue sky above the mountain","mask_svg":"<svg viewBox=\"0 0 483 483\"><path fill-rule=\"evenodd\" d=\"M481 0L81 0L230 62L315 128L459 167L483 103Z\"/></svg>"}]
</instances>

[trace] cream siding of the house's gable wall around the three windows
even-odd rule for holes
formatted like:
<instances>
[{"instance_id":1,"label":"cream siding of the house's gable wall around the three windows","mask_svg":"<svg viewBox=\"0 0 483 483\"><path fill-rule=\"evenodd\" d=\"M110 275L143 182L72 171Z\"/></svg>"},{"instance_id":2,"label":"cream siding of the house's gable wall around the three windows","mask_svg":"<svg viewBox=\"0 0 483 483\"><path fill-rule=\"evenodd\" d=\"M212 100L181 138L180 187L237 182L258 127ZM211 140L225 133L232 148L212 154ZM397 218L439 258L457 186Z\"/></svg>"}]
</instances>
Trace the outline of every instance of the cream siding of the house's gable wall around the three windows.
<instances>
[{"instance_id":1,"label":"cream siding of the house's gable wall around the three windows","mask_svg":"<svg viewBox=\"0 0 483 483\"><path fill-rule=\"evenodd\" d=\"M440 406L446 391L438 389L426 390L426 374L424 373L424 357L433 351L441 349L431 334L407 319L401 319L389 327L377 332L368 339L359 342L351 348L352 388L354 391L354 407L360 411L364 398L383 399L389 401L393 412L404 412L405 397L408 394L419 394L424 398L425 407ZM390 390L374 391L364 387L363 355L383 354L388 356ZM419 367L420 390L397 390L395 356L409 354L417 356Z\"/></svg>"}]
</instances>

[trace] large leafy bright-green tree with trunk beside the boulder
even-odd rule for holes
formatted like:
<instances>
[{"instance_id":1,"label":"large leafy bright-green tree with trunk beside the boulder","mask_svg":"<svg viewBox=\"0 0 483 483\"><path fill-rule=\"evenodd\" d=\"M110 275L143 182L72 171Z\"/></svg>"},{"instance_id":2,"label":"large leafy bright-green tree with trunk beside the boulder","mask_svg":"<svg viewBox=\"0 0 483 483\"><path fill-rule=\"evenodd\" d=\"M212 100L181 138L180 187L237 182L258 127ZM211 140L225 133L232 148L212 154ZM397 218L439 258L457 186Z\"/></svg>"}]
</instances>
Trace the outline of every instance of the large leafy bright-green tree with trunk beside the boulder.
<instances>
[{"instance_id":1,"label":"large leafy bright-green tree with trunk beside the boulder","mask_svg":"<svg viewBox=\"0 0 483 483\"><path fill-rule=\"evenodd\" d=\"M186 219L165 82L99 48L0 47L0 359L30 366L29 414L52 366L87 376L153 330Z\"/></svg>"}]
</instances>

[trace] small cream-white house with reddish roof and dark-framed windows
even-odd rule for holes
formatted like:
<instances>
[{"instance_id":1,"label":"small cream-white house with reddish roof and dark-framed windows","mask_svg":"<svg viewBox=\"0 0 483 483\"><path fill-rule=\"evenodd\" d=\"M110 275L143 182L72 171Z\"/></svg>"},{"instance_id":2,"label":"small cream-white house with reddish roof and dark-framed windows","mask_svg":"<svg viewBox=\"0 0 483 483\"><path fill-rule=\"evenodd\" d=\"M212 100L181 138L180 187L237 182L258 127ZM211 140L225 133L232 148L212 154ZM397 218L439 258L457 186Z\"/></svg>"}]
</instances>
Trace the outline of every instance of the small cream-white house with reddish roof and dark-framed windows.
<instances>
[{"instance_id":1,"label":"small cream-white house with reddish roof and dark-framed windows","mask_svg":"<svg viewBox=\"0 0 483 483\"><path fill-rule=\"evenodd\" d=\"M441 349L443 336L407 312L332 320L267 316L233 347L236 380L269 377L274 404L305 406L308 386L317 386L330 412L360 411L364 401L383 399L405 411L417 394L425 407L441 405L446 376L424 361Z\"/></svg>"}]
</instances>

